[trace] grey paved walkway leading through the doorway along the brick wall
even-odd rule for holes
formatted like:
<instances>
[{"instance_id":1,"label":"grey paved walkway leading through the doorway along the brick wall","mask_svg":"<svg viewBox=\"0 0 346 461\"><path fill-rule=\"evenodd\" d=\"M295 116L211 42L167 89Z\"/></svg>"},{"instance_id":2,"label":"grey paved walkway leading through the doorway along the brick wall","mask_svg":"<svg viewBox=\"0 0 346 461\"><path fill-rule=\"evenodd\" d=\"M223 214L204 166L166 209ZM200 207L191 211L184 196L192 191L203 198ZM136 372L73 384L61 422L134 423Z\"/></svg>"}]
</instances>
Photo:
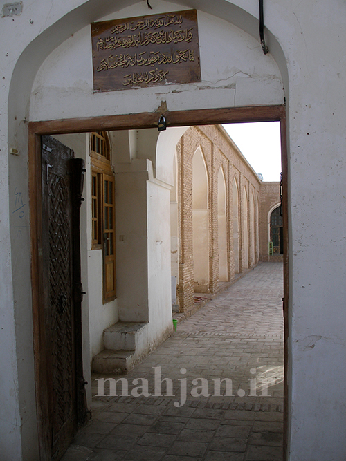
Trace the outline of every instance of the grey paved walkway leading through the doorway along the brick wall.
<instances>
[{"instance_id":1,"label":"grey paved walkway leading through the doorway along the brick wall","mask_svg":"<svg viewBox=\"0 0 346 461\"><path fill-rule=\"evenodd\" d=\"M120 382L110 396L107 382L93 397L93 420L63 461L282 461L281 299L282 264L261 263L180 322L126 375L128 396ZM155 391L154 373L172 389Z\"/></svg>"}]
</instances>

